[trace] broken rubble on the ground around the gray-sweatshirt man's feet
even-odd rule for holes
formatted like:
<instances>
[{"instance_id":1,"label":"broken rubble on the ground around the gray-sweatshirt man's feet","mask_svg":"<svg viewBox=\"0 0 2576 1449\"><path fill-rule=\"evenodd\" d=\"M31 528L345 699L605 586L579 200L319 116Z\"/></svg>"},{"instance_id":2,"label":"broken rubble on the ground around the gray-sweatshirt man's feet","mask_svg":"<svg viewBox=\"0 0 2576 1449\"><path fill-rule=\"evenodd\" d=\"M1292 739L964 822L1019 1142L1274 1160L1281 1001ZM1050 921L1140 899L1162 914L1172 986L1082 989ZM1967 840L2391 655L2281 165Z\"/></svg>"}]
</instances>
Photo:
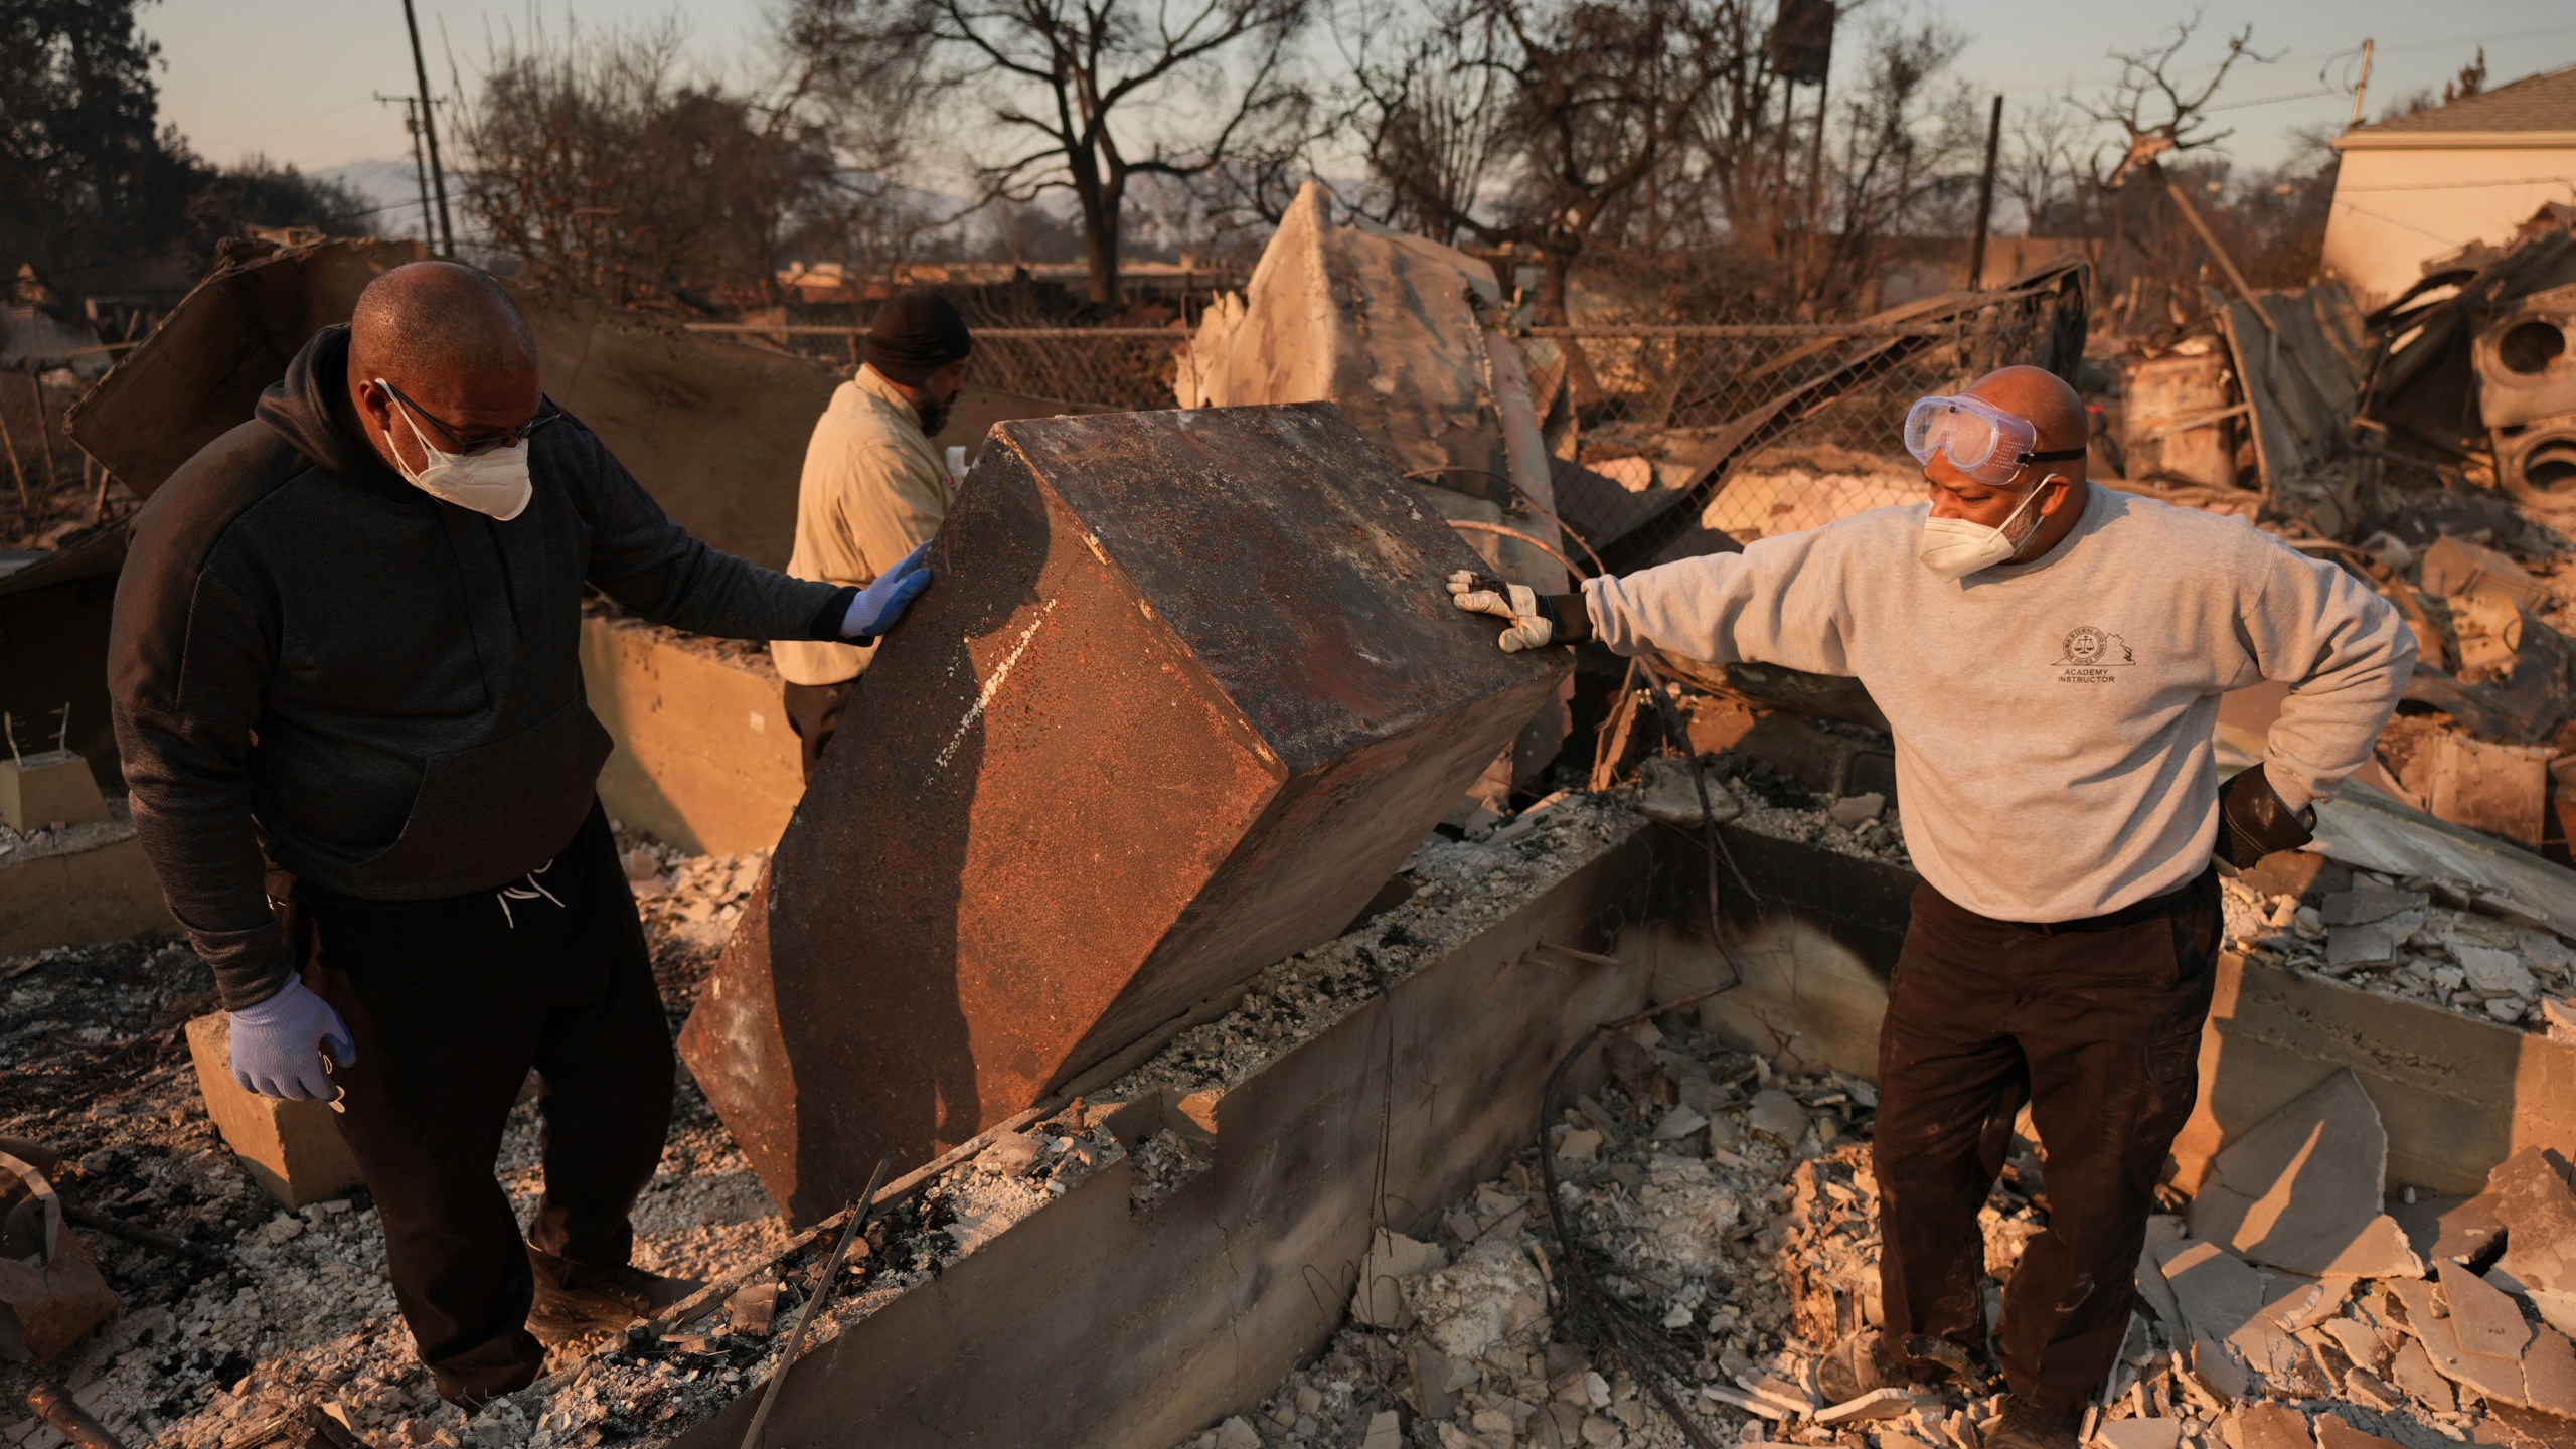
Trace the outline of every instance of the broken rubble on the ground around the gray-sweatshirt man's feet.
<instances>
[{"instance_id":1,"label":"broken rubble on the ground around the gray-sweatshirt man's feet","mask_svg":"<svg viewBox=\"0 0 2576 1449\"><path fill-rule=\"evenodd\" d=\"M1695 1390L1690 1410L1723 1444L1976 1449L1999 1410L1996 1392L1919 1390L1832 1423L1819 1369L1844 1336L1878 1328L1873 1104L1868 1083L1775 1078L1759 1057L1687 1029L1641 1026L1613 1039L1610 1080L1548 1127L1595 1281L1628 1323L1659 1325L1656 1354L1690 1364L1695 1385L1674 1387ZM2519 1171L2530 1191L2558 1168ZM1419 1240L1381 1235L1332 1343L1257 1410L1177 1449L1687 1444L1607 1343L1569 1333L1540 1191L1533 1145L1448 1204ZM2419 1196L2401 1189L2391 1209L2416 1212ZM2445 1225L2478 1220L2455 1199L2421 1204L2427 1232L2434 1212ZM1989 1323L2045 1222L2045 1155L2025 1114L1981 1214ZM2141 1261L2141 1307L2084 1439L2110 1449L2576 1444L2576 1418L2561 1418L2576 1415L2576 1356L2535 1323L2550 1312L2545 1294L2527 1294L2501 1269L2476 1276L2501 1245L2494 1232L2473 1238L2445 1266L2427 1238L2424 1276L2318 1281L2192 1243L2179 1217L2159 1214ZM2208 1315L2202 1279L2174 1287L2213 1266L2251 1294L2233 1320L2192 1318ZM2519 1397L2501 1403L2488 1392L2501 1382L2470 1382L2494 1364L2463 1354L2476 1312L2460 1305L2486 1299L2504 1302L2504 1328L2530 1343L2527 1387L2517 1379ZM2545 1382L2550 1372L2566 1382ZM2519 1403L2553 1392L2568 1395L2555 1413Z\"/></svg>"}]
</instances>

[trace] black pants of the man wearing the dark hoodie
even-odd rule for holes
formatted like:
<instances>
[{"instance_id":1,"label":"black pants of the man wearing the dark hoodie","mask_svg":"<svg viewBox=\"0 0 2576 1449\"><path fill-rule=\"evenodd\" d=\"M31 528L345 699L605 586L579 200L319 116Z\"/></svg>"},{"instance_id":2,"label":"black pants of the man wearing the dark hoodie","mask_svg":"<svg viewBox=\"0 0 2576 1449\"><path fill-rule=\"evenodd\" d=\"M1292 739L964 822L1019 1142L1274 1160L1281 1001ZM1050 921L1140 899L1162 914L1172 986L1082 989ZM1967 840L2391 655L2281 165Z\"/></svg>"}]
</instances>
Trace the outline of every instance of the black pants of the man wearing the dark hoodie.
<instances>
[{"instance_id":1,"label":"black pants of the man wearing the dark hoodie","mask_svg":"<svg viewBox=\"0 0 2576 1449\"><path fill-rule=\"evenodd\" d=\"M355 1036L340 1134L358 1158L394 1299L451 1400L526 1387L533 1274L585 1287L626 1263L626 1209L662 1160L672 1052L644 926L598 804L507 892L361 902L296 890L304 982ZM520 1240L492 1178L528 1070L544 1078L546 1194ZM533 1274L531 1274L533 1269Z\"/></svg>"}]
</instances>

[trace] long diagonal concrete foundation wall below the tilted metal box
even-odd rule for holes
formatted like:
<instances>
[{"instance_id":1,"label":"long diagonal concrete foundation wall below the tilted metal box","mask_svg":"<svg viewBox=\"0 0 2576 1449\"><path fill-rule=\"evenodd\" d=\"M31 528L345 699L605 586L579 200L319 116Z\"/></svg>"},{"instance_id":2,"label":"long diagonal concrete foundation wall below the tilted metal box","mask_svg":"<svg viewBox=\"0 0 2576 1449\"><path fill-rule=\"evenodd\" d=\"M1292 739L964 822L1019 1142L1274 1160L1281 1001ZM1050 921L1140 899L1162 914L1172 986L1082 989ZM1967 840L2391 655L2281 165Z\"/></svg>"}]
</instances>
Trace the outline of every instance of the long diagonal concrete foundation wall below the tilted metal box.
<instances>
[{"instance_id":1,"label":"long diagonal concrete foundation wall below the tilted metal box","mask_svg":"<svg viewBox=\"0 0 2576 1449\"><path fill-rule=\"evenodd\" d=\"M799 1359L762 1441L1172 1444L1260 1403L1340 1325L1378 1214L1417 1227L1499 1171L1556 1057L1643 1003L1618 933L1649 869L1625 835L1213 1104L1128 1104L1121 1137L1213 1122L1213 1163L1141 1212L1103 1168ZM732 1449L755 1400L672 1444Z\"/></svg>"}]
</instances>

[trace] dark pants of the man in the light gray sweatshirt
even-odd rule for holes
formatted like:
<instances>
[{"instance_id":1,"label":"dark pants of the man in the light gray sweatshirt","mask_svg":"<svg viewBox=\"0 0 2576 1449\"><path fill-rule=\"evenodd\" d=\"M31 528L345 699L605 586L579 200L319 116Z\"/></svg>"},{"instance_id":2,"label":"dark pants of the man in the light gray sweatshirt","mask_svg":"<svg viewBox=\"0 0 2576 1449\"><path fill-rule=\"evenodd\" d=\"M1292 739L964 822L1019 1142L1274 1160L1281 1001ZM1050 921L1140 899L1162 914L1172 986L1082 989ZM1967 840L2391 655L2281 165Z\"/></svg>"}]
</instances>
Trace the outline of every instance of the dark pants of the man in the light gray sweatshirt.
<instances>
[{"instance_id":1,"label":"dark pants of the man in the light gray sweatshirt","mask_svg":"<svg viewBox=\"0 0 2576 1449\"><path fill-rule=\"evenodd\" d=\"M2166 1150L2200 1091L2218 959L2215 871L2112 915L1989 920L1914 892L1878 1039L1880 1307L1888 1336L1984 1348L1984 1235L1996 1145L2040 1132L2048 1230L2004 1289L2012 1392L2079 1410L2136 1302Z\"/></svg>"}]
</instances>

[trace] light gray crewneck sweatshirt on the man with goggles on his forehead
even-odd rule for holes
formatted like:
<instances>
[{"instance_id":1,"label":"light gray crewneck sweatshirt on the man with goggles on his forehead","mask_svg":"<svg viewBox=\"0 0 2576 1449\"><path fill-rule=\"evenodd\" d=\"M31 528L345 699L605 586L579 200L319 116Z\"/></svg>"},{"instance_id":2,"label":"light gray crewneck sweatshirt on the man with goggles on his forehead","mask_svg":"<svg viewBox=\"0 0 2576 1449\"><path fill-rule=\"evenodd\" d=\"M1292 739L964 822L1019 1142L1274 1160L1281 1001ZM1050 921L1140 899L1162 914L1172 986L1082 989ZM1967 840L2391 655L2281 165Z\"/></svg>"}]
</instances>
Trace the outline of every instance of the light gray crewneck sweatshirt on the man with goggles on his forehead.
<instances>
[{"instance_id":1,"label":"light gray crewneck sweatshirt on the man with goggles on his forehead","mask_svg":"<svg viewBox=\"0 0 2576 1449\"><path fill-rule=\"evenodd\" d=\"M2264 773L2293 810L2370 758L2414 670L2398 611L2241 518L2087 485L2027 565L1942 580L1927 505L1584 583L1623 655L1855 676L1896 732L1906 848L1999 920L2174 890L2218 833L2218 696L2290 683Z\"/></svg>"}]
</instances>

